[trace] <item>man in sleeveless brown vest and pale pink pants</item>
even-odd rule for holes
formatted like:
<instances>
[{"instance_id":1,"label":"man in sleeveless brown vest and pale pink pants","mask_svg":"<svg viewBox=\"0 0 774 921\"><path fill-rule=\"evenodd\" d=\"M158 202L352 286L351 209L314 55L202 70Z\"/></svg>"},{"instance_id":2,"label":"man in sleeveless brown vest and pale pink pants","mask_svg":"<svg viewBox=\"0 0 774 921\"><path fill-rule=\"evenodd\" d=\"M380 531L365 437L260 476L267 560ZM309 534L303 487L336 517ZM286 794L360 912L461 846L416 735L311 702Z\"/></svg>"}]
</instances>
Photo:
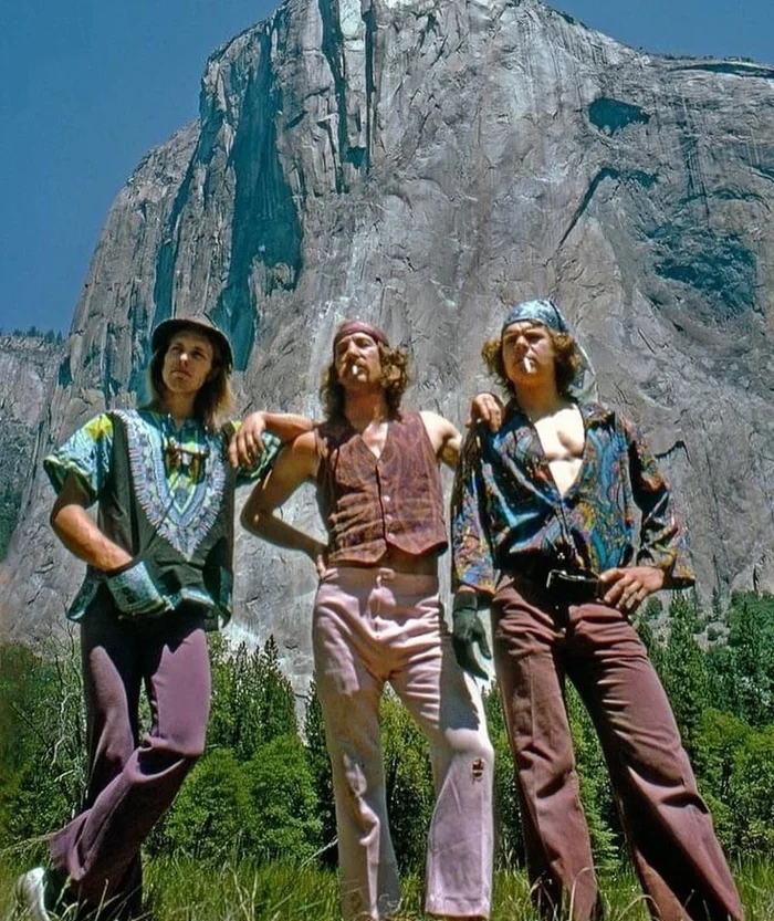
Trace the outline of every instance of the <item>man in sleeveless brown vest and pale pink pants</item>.
<instances>
[{"instance_id":1,"label":"man in sleeveless brown vest and pale pink pants","mask_svg":"<svg viewBox=\"0 0 774 921\"><path fill-rule=\"evenodd\" d=\"M435 412L400 409L407 356L378 328L336 332L322 395L326 420L279 456L242 524L315 564L315 679L333 765L342 909L380 919L400 902L386 814L379 700L386 681L430 743L437 802L426 909L489 914L492 764L480 698L457 664L438 595L447 547L439 462L457 463L460 435ZM274 510L316 484L328 541Z\"/></svg>"}]
</instances>

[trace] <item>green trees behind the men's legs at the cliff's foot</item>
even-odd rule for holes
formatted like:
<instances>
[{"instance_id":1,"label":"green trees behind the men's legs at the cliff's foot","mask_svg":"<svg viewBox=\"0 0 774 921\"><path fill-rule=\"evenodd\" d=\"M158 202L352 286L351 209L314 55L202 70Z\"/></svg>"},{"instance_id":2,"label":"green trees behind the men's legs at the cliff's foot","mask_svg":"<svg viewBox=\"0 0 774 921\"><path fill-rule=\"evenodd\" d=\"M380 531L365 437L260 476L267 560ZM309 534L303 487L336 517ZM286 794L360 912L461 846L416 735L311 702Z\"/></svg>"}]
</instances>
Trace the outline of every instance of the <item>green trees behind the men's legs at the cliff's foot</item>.
<instances>
[{"instance_id":1,"label":"green trees behind the men's legs at the cliff's foot","mask_svg":"<svg viewBox=\"0 0 774 921\"><path fill-rule=\"evenodd\" d=\"M724 610L715 603L709 613L695 597L677 596L667 617L651 603L639 630L726 851L774 859L774 596L734 595ZM213 866L289 856L333 865L332 778L314 685L300 721L273 639L251 651L244 645L230 649L215 636L211 655L207 751L151 836L149 854ZM77 662L72 638L45 656L24 646L0 648L0 848L34 842L57 828L83 795ZM496 753L498 861L520 866L517 795L496 690L485 704ZM615 868L625 859L624 842L604 757L572 689L567 708L596 856ZM384 699L381 725L398 860L404 869L419 869L433 805L427 744L391 694Z\"/></svg>"}]
</instances>

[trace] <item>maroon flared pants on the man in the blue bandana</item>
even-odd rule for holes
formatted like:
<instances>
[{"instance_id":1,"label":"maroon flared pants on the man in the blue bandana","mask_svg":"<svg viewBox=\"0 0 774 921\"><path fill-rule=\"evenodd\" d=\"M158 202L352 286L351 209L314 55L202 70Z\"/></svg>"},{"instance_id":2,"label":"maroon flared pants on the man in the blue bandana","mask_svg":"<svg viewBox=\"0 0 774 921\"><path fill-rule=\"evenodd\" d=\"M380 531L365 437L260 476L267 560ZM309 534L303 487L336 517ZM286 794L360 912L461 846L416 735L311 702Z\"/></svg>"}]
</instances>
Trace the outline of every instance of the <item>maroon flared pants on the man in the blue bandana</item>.
<instances>
[{"instance_id":1,"label":"maroon flared pants on the man in the blue bandana","mask_svg":"<svg viewBox=\"0 0 774 921\"><path fill-rule=\"evenodd\" d=\"M544 914L572 906L574 921L588 921L598 912L564 703L569 678L599 734L652 917L743 918L663 688L626 617L598 603L568 605L508 576L492 604L492 635L527 869Z\"/></svg>"}]
</instances>

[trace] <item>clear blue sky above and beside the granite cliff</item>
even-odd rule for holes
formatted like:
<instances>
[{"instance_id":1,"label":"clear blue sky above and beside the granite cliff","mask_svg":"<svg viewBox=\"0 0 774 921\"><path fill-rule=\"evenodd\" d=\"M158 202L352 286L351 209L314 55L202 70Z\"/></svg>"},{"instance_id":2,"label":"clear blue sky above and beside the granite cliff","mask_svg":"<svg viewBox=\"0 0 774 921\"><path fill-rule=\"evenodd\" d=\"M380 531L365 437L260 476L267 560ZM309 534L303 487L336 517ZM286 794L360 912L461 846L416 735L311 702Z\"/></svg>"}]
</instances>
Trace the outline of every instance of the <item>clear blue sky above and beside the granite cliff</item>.
<instances>
[{"instance_id":1,"label":"clear blue sky above and beside the granite cliff","mask_svg":"<svg viewBox=\"0 0 774 921\"><path fill-rule=\"evenodd\" d=\"M636 48L774 64L772 0L557 0ZM0 328L66 332L107 209L196 117L208 54L266 0L19 0L0 15Z\"/></svg>"}]
</instances>

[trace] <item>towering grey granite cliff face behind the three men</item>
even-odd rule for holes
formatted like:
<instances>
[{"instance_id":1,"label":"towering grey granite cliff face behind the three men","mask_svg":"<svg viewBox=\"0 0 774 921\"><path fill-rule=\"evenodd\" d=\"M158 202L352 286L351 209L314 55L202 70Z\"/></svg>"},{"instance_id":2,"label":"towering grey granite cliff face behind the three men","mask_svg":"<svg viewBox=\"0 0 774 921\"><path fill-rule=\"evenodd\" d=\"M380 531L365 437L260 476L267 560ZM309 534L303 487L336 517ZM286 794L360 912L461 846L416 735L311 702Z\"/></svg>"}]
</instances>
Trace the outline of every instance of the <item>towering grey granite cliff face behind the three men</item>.
<instances>
[{"instance_id":1,"label":"towering grey granite cliff face behind the three men","mask_svg":"<svg viewBox=\"0 0 774 921\"><path fill-rule=\"evenodd\" d=\"M410 402L462 422L502 302L550 293L670 473L702 590L774 588L774 69L648 55L537 0L287 0L212 55L200 109L111 210L49 441L130 402L153 324L202 310L244 406L315 411L357 314L411 349ZM3 575L27 634L77 580L46 490ZM304 672L312 567L238 556L237 631Z\"/></svg>"}]
</instances>

